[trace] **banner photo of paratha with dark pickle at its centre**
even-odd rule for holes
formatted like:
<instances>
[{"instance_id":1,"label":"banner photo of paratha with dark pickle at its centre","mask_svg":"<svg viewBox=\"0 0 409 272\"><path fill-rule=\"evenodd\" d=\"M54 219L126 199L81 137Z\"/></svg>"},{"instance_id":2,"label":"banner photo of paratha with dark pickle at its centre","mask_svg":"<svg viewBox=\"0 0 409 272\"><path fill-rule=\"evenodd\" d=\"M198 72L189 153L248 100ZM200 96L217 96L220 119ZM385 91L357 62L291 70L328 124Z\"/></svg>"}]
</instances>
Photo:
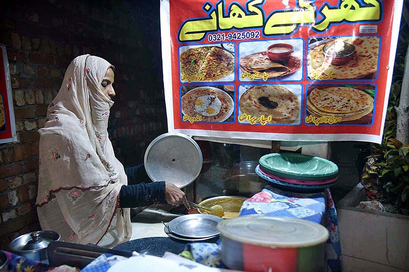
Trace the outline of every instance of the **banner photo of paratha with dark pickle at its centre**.
<instances>
[{"instance_id":1,"label":"banner photo of paratha with dark pickle at its centre","mask_svg":"<svg viewBox=\"0 0 409 272\"><path fill-rule=\"evenodd\" d=\"M299 88L299 94L291 92L290 86ZM300 85L253 85L240 97L240 112L252 117L271 116L271 124L299 124L299 97L301 98Z\"/></svg>"}]
</instances>

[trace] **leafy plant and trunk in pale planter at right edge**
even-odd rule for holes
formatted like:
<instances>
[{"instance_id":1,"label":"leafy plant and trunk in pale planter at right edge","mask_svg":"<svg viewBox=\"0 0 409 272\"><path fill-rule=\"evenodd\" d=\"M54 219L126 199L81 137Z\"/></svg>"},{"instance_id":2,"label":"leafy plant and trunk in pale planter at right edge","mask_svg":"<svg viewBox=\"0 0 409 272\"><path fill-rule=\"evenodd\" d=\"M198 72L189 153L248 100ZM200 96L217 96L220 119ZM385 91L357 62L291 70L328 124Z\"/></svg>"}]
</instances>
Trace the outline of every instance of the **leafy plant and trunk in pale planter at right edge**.
<instances>
[{"instance_id":1,"label":"leafy plant and trunk in pale planter at right edge","mask_svg":"<svg viewBox=\"0 0 409 272\"><path fill-rule=\"evenodd\" d=\"M343 271L409 270L408 39L398 44L382 143L371 144L360 183L337 203ZM387 209L359 208L368 199Z\"/></svg>"}]
</instances>

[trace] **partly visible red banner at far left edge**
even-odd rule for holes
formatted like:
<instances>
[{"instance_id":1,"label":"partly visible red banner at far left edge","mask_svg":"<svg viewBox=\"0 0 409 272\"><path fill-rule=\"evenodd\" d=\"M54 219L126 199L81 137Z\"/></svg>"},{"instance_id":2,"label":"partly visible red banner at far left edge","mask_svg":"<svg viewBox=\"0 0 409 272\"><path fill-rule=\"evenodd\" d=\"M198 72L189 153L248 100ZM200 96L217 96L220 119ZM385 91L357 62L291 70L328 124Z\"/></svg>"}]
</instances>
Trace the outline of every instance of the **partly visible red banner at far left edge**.
<instances>
[{"instance_id":1,"label":"partly visible red banner at far left edge","mask_svg":"<svg viewBox=\"0 0 409 272\"><path fill-rule=\"evenodd\" d=\"M13 95L6 48L0 46L0 143L17 141L14 120Z\"/></svg>"}]
</instances>

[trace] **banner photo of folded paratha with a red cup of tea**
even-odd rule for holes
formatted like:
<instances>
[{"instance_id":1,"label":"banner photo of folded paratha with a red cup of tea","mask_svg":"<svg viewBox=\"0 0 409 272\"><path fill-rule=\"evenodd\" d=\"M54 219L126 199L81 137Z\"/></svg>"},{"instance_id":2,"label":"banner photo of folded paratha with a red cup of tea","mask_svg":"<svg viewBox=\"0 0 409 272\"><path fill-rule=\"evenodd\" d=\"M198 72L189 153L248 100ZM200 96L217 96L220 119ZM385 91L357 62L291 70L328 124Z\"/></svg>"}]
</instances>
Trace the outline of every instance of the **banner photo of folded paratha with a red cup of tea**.
<instances>
[{"instance_id":1,"label":"banner photo of folded paratha with a red cup of tea","mask_svg":"<svg viewBox=\"0 0 409 272\"><path fill-rule=\"evenodd\" d=\"M281 60L271 60L268 58L267 49L274 44L287 43L293 47L291 56ZM294 40L268 40L255 42L241 42L239 45L240 61L239 67L241 70L240 81L260 81L268 79L283 78L285 80L301 80L302 79L302 54L303 42L298 39ZM296 73L299 71L299 73ZM249 73L252 76L258 77L251 79L242 76L243 73ZM265 77L266 75L266 77ZM262 78L262 76L264 78ZM292 76L289 78L289 76Z\"/></svg>"}]
</instances>

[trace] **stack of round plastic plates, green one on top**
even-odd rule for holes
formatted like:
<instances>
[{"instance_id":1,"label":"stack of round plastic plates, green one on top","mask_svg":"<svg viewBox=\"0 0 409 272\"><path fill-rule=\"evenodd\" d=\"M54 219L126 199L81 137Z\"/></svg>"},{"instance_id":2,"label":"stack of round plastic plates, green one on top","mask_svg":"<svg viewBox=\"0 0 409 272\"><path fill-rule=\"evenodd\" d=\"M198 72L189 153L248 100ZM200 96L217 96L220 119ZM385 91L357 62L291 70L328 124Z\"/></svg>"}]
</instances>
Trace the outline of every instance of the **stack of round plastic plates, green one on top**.
<instances>
[{"instance_id":1,"label":"stack of round plastic plates, green one on top","mask_svg":"<svg viewBox=\"0 0 409 272\"><path fill-rule=\"evenodd\" d=\"M291 192L312 192L333 185L338 167L325 158L297 153L272 153L259 160L256 173L275 187Z\"/></svg>"}]
</instances>

